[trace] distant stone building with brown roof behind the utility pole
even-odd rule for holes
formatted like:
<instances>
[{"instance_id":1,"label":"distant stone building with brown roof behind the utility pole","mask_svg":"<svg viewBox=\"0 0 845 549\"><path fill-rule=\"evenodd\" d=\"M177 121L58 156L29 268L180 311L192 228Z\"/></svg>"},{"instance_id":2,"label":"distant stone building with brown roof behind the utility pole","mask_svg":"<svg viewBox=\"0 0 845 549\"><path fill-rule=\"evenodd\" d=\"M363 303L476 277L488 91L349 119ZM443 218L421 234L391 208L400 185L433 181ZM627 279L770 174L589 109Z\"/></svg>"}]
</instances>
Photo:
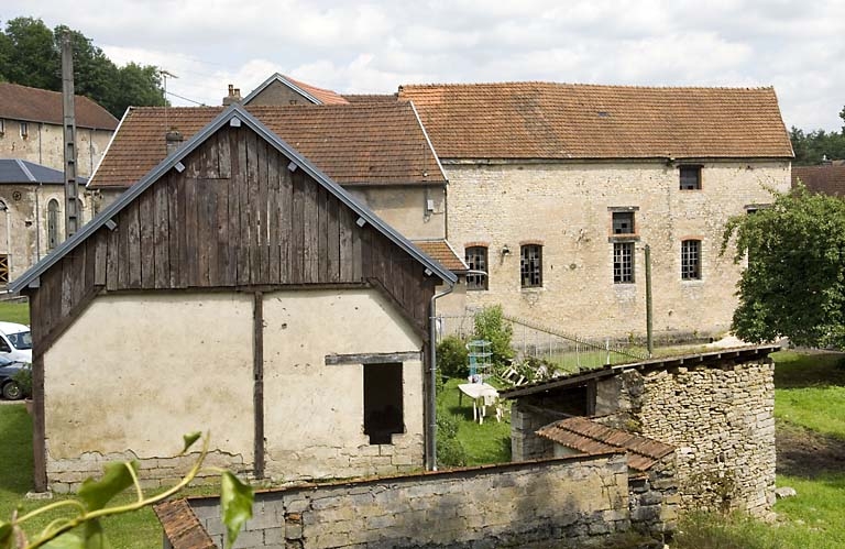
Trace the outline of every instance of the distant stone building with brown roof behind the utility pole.
<instances>
[{"instance_id":1,"label":"distant stone building with brown roof behind the utility pole","mask_svg":"<svg viewBox=\"0 0 845 549\"><path fill-rule=\"evenodd\" d=\"M118 120L76 96L77 175L89 177L102 158ZM0 83L0 158L19 158L64 171L62 94Z\"/></svg>"}]
</instances>

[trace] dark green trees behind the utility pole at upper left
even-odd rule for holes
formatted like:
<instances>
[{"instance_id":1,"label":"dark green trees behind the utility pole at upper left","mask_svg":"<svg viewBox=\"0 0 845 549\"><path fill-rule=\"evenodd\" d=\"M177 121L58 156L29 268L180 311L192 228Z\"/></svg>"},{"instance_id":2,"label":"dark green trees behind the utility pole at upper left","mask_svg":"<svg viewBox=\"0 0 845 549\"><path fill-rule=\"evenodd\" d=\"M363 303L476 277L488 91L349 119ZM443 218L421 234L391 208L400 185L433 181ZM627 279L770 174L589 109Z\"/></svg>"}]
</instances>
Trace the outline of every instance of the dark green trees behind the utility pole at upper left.
<instances>
[{"instance_id":1,"label":"dark green trees behind the utility pole at upper left","mask_svg":"<svg viewBox=\"0 0 845 549\"><path fill-rule=\"evenodd\" d=\"M15 18L0 33L0 80L62 90L62 37L70 35L74 50L74 88L120 118L129 106L165 102L161 74L152 65L118 67L90 39L58 25L51 31L41 19Z\"/></svg>"}]
</instances>

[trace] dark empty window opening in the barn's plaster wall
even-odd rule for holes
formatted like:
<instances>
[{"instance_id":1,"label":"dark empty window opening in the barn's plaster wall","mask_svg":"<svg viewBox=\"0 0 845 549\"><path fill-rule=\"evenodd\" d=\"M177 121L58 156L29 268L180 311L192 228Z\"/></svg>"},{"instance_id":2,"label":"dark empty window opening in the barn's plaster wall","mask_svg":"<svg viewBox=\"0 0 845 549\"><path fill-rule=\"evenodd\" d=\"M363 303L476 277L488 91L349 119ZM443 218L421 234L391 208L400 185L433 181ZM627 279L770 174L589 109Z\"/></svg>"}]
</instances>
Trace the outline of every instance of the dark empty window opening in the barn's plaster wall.
<instances>
[{"instance_id":1,"label":"dark empty window opening in the barn's plaster wall","mask_svg":"<svg viewBox=\"0 0 845 549\"><path fill-rule=\"evenodd\" d=\"M405 432L402 363L364 364L364 435L371 444L389 444Z\"/></svg>"}]
</instances>

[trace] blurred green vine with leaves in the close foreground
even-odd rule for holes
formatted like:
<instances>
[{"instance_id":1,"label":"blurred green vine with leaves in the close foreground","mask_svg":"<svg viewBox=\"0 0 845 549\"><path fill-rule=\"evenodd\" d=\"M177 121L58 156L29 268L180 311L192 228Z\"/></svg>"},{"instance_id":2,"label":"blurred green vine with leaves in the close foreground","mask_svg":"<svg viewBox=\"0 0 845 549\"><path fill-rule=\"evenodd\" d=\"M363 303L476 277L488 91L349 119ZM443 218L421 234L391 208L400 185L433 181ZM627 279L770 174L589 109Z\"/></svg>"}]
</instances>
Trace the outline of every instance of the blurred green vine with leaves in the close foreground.
<instances>
[{"instance_id":1,"label":"blurred green vine with leaves in the close foreground","mask_svg":"<svg viewBox=\"0 0 845 549\"><path fill-rule=\"evenodd\" d=\"M180 455L200 438L199 433L186 435ZM0 549L106 549L110 545L102 528L105 517L136 512L162 502L186 487L202 471L213 471L221 475L221 518L228 532L227 547L232 547L243 524L252 518L253 491L229 471L217 468L204 470L202 462L207 453L206 437L199 458L190 471L175 486L152 496L145 496L141 487L138 462L108 463L100 480L87 479L83 483L77 494L78 499L51 503L22 517L15 510L11 520L0 520ZM134 502L109 506L118 494L131 486L134 486L136 493ZM41 532L28 536L23 529L29 520L39 515L68 508L72 510L65 517L51 521Z\"/></svg>"}]
</instances>

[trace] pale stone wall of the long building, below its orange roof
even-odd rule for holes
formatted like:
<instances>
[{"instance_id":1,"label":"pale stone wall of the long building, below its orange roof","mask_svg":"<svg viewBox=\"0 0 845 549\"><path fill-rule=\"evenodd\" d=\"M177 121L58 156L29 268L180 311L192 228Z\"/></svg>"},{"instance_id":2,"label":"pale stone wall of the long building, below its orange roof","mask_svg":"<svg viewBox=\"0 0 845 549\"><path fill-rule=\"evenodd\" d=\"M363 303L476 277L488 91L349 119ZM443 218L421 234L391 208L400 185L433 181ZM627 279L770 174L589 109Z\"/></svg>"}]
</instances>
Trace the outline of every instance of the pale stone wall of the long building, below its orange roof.
<instances>
[{"instance_id":1,"label":"pale stone wall of the long building, below its orange roof","mask_svg":"<svg viewBox=\"0 0 845 549\"><path fill-rule=\"evenodd\" d=\"M643 246L651 246L657 334L718 333L736 306L740 266L720 256L729 216L790 187L789 162L710 162L701 190L680 190L677 166L627 164L447 165L449 241L490 245L490 289L470 307L502 304L518 317L588 337L646 329ZM613 283L608 207L638 207L635 284ZM702 279L680 277L681 240L702 240ZM541 241L542 288L520 288L519 245ZM511 255L500 251L507 244Z\"/></svg>"}]
</instances>

